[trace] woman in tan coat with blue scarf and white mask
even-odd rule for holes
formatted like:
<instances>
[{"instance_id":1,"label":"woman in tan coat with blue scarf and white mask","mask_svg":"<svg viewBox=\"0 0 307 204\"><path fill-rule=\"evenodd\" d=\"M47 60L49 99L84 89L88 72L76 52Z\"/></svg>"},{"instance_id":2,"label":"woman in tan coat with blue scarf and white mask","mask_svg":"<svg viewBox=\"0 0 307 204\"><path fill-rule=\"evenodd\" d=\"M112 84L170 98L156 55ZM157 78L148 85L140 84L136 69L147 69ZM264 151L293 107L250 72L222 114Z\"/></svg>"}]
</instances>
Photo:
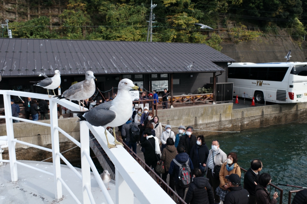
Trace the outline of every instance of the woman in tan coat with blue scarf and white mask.
<instances>
[{"instance_id":1,"label":"woman in tan coat with blue scarf and white mask","mask_svg":"<svg viewBox=\"0 0 307 204\"><path fill-rule=\"evenodd\" d=\"M237 164L238 158L235 152L231 152L227 155L227 161L222 165L220 170L220 186L216 188L216 194L220 196L220 199L224 201L225 195L229 192L227 179L225 176L230 174L237 174L241 178L241 170L239 164Z\"/></svg>"}]
</instances>

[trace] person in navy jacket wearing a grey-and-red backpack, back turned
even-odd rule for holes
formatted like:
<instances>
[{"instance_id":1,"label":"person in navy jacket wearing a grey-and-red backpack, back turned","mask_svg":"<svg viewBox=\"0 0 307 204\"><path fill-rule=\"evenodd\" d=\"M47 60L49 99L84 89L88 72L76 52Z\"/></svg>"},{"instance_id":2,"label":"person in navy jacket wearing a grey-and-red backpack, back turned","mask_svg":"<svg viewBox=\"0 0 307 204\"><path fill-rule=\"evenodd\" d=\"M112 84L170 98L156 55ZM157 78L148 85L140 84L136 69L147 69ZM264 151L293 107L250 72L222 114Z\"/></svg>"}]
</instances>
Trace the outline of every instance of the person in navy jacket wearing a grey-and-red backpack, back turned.
<instances>
[{"instance_id":1,"label":"person in navy jacket wearing a grey-and-red backpack, back turned","mask_svg":"<svg viewBox=\"0 0 307 204\"><path fill-rule=\"evenodd\" d=\"M177 194L183 199L185 197L185 189L192 182L191 171L194 168L189 155L185 153L183 145L177 146L177 153L175 159L169 165L169 175L175 177L175 189Z\"/></svg>"}]
</instances>

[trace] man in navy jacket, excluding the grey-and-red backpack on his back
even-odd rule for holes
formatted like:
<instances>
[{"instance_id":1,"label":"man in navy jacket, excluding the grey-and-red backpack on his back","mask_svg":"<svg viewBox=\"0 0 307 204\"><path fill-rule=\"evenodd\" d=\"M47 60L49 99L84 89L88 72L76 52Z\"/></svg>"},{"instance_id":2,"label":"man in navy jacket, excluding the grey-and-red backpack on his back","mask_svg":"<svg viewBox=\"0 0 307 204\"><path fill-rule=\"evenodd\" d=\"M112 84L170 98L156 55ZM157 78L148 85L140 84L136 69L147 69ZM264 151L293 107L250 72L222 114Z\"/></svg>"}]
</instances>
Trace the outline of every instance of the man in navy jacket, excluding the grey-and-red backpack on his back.
<instances>
[{"instance_id":1,"label":"man in navy jacket, excluding the grey-and-red backpack on his back","mask_svg":"<svg viewBox=\"0 0 307 204\"><path fill-rule=\"evenodd\" d=\"M182 136L183 137L183 136ZM189 155L185 153L185 147L183 145L177 146L177 155L175 157L176 161L180 164L184 164L185 162L188 162L188 165L190 167L190 170L193 171L193 164L191 159L189 158ZM177 194L183 199L185 197L185 189L181 187L181 181L179 180L179 166L175 164L174 161L171 162L169 166L169 175L173 175L175 177L175 189L177 191Z\"/></svg>"}]
</instances>

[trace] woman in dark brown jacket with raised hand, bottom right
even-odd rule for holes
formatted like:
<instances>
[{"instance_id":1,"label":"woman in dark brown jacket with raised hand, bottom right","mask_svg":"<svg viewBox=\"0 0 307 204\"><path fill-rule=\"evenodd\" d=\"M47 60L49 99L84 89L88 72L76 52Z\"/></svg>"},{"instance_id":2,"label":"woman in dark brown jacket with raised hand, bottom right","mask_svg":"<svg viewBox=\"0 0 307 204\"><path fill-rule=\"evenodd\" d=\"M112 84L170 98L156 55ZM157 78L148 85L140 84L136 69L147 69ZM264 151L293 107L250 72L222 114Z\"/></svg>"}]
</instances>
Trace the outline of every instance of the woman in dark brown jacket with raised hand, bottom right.
<instances>
[{"instance_id":1,"label":"woman in dark brown jacket with raised hand, bottom right","mask_svg":"<svg viewBox=\"0 0 307 204\"><path fill-rule=\"evenodd\" d=\"M271 183L272 179L270 174L263 173L260 175L259 182L256 186L256 202L257 204L277 204L277 192L274 193L273 198L270 198L270 193L267 191L266 186Z\"/></svg>"}]
</instances>

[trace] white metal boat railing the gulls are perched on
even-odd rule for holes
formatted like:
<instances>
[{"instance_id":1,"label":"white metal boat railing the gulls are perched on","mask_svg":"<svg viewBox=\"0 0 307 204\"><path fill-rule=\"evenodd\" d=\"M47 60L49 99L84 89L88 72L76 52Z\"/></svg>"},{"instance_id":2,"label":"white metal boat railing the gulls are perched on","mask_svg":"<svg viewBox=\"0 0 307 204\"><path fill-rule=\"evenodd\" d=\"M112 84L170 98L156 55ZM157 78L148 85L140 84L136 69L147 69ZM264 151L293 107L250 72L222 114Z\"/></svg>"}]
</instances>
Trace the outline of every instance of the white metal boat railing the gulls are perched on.
<instances>
[{"instance_id":1,"label":"white metal boat railing the gulls are perched on","mask_svg":"<svg viewBox=\"0 0 307 204\"><path fill-rule=\"evenodd\" d=\"M131 157L131 155L120 145L117 148L109 149L107 147L107 139L104 134L103 127L94 127L85 121L80 122L80 142L74 139L72 136L67 134L64 130L58 127L57 120L57 104L68 108L72 111L78 111L79 106L68 100L58 100L56 98L49 98L48 95L28 93L20 91L11 90L0 90L0 94L3 94L4 98L4 108L5 116L0 116L0 118L6 119L6 132L7 141L9 148L9 158L10 160L0 160L0 162L10 163L11 180L17 181L17 164L31 168L33 170L43 172L50 176L54 176L55 182L55 199L61 200L62 195L62 185L68 190L72 195L72 198L76 203L81 202L78 200L76 195L67 186L64 180L61 178L60 170L60 158L68 165L69 168L82 180L82 192L83 192L83 203L94 204L94 198L91 193L91 175L90 169L92 169L95 179L101 188L101 191L108 204L113 204L113 200L103 183L93 161L91 160L89 154L89 130L93 133L99 144L102 146L103 150L106 152L108 157L111 159L115 165L115 201L116 204L133 204L134 195L138 198L141 203L174 203L174 201L165 193L165 191L150 177L150 175ZM50 124L41 123L38 121L32 121L27 119L21 119L17 117L12 117L10 96L24 96L38 99L49 100L50 108ZM22 142L20 140L14 139L13 131L13 121L12 119L24 121L28 123L34 123L37 125L43 125L50 127L51 130L51 141L52 149L41 147L38 145L30 144L27 142ZM78 145L81 149L81 174L76 171L75 168L65 159L65 157L60 153L59 149L59 131L64 134L68 139ZM107 131L109 141L114 140L114 137ZM52 152L52 162L53 162L53 173L46 172L39 168L24 164L22 162L16 161L15 154L15 142L42 149L45 151ZM157 196L158 195L158 196Z\"/></svg>"}]
</instances>

